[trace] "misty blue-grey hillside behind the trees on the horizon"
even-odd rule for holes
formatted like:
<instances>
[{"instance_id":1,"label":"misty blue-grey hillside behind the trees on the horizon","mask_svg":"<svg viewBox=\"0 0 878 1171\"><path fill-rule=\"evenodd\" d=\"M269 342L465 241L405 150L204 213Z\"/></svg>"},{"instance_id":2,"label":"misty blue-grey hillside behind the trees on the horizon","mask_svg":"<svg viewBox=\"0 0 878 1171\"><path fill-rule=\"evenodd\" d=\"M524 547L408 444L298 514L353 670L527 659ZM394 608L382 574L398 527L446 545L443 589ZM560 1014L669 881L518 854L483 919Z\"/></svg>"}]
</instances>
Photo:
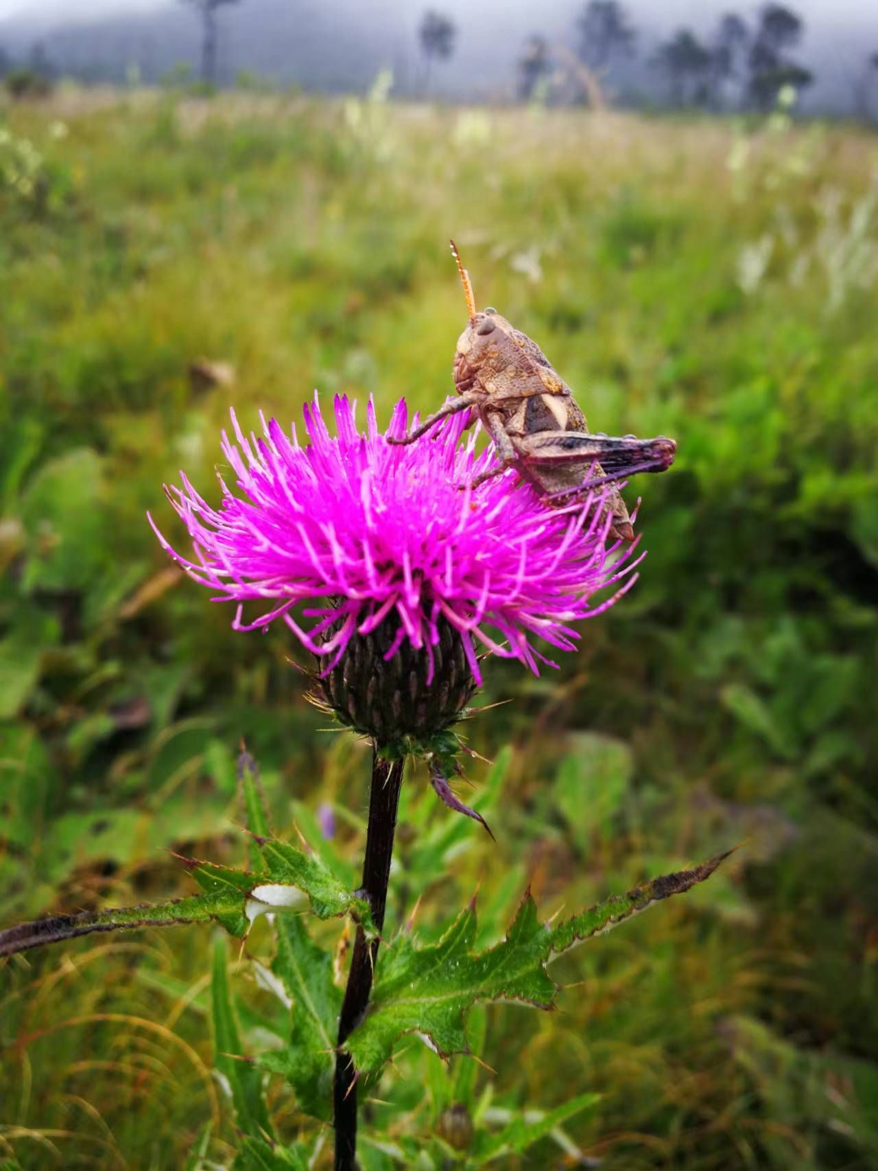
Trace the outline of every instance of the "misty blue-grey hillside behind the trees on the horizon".
<instances>
[{"instance_id":1,"label":"misty blue-grey hillside behind the trees on the horizon","mask_svg":"<svg viewBox=\"0 0 878 1171\"><path fill-rule=\"evenodd\" d=\"M241 70L283 84L328 93L362 91L382 68L390 68L395 93L424 91L425 68L418 25L426 5L398 0L241 0L219 11L217 75L232 82ZM459 0L438 6L457 26L454 52L431 73L433 96L459 101L501 100L516 91L516 70L526 41L540 34L555 47L576 46L575 2L500 5L494 0L473 7ZM871 7L871 6L869 6ZM754 6L740 12L753 20ZM630 104L661 104L666 90L651 64L657 47L681 23L681 14L697 35L708 37L719 9L650 6L647 14L631 5L637 28L637 52L616 60L606 74L611 100ZM200 53L198 15L181 4L153 12L101 18L50 18L27 14L0 22L0 50L28 61L40 55L60 73L84 81L121 82L136 70L144 82L156 82L181 63L197 67ZM845 114L855 109L857 84L871 53L878 53L878 16L839 18L824 14L805 22L795 56L815 74L803 93L805 110ZM878 74L878 70L876 70Z\"/></svg>"}]
</instances>

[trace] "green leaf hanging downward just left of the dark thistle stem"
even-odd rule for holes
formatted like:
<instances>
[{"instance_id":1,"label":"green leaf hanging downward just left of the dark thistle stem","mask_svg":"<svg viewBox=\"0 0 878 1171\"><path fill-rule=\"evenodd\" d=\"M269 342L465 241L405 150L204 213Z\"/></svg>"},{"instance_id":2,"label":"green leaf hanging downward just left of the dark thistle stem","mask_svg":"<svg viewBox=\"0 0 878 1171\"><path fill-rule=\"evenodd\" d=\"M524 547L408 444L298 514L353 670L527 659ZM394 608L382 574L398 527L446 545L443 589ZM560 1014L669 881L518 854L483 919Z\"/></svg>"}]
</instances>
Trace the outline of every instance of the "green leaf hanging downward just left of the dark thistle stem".
<instances>
[{"instance_id":1,"label":"green leaf hanging downward just left of the dark thistle stem","mask_svg":"<svg viewBox=\"0 0 878 1171\"><path fill-rule=\"evenodd\" d=\"M303 920L276 920L277 954L272 971L293 1001L289 1046L262 1057L263 1068L283 1074L306 1114L331 1119L334 1049L342 991L332 982L332 957L308 934Z\"/></svg>"}]
</instances>

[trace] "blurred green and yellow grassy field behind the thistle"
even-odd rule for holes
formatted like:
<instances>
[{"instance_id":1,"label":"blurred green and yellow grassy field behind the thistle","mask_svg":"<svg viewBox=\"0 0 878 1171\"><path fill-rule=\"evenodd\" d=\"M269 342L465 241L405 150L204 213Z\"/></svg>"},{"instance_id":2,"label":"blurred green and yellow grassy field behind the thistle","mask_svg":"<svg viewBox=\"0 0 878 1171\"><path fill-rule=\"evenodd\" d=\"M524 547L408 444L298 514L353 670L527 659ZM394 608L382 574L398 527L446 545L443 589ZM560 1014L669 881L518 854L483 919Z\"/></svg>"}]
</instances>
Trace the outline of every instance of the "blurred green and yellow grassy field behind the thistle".
<instances>
[{"instance_id":1,"label":"blurred green and yellow grassy field behind the thistle","mask_svg":"<svg viewBox=\"0 0 878 1171\"><path fill-rule=\"evenodd\" d=\"M215 498L229 405L245 426L260 409L299 419L314 388L373 395L382 420L403 395L437 406L464 326L450 235L480 304L539 341L594 429L672 434L679 456L637 486L642 580L582 651L539 680L486 672L485 701L512 700L471 726L488 758L512 745L485 808L498 844L410 778L387 925L423 890L428 934L480 884L489 939L528 881L550 913L746 840L686 899L560 960L562 1012L491 1008L494 1073L455 1059L455 1093L489 1121L597 1091L565 1131L613 1171L876 1166L863 130L406 108L379 90L5 108L0 923L188 891L169 849L241 864L242 737L279 831L318 836L329 802L356 867L364 746L303 701L283 631L233 634L145 512L180 536L162 494L180 467ZM199 361L234 381L193 379ZM471 769L476 794L486 775ZM206 1123L211 1158L229 1158L208 945L204 929L96 936L0 970L4 1166L181 1167ZM254 931L248 951L269 949ZM247 961L233 982L258 1049L267 993ZM426 1144L450 1093L413 1043L379 1095L391 1134ZM282 1087L272 1104L294 1137ZM366 1130L386 1109L368 1107ZM498 1165L565 1158L547 1139Z\"/></svg>"}]
</instances>

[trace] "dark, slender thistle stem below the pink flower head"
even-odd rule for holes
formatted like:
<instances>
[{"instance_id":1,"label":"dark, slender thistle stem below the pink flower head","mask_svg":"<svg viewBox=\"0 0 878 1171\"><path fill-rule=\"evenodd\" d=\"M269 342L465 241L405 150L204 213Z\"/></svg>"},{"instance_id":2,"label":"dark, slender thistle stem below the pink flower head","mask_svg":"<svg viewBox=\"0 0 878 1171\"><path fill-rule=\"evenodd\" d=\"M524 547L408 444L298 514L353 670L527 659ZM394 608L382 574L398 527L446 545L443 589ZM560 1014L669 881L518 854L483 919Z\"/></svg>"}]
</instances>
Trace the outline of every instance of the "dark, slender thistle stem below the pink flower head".
<instances>
[{"instance_id":1,"label":"dark, slender thistle stem below the pink flower head","mask_svg":"<svg viewBox=\"0 0 878 1171\"><path fill-rule=\"evenodd\" d=\"M390 763L382 760L378 746L373 744L372 788L369 797L369 828L362 889L371 905L372 922L379 933L384 926L384 909L387 903L387 879L402 783L403 761ZM338 1019L339 1050L335 1060L334 1087L335 1171L355 1171L357 1165L357 1073L351 1056L341 1046L363 1019L369 1005L379 941L377 938L366 940L363 927L357 927L348 987L344 989L344 1001Z\"/></svg>"}]
</instances>

